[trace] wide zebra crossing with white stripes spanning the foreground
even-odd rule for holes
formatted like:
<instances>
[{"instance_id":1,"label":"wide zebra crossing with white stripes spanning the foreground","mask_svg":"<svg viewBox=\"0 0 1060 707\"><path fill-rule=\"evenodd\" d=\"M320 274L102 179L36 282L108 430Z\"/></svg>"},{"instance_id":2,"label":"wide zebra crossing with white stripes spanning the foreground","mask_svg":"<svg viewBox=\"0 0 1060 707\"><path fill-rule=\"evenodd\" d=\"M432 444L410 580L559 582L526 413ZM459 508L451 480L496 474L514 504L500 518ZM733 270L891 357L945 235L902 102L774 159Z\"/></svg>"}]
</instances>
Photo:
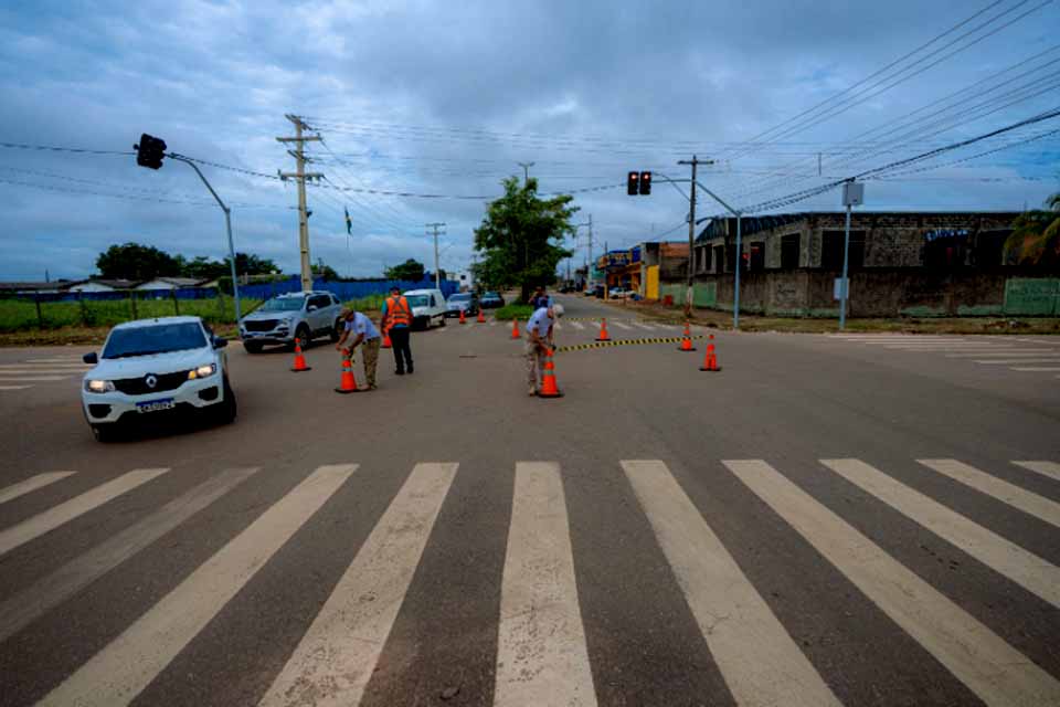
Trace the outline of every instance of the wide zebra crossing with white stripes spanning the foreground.
<instances>
[{"instance_id":1,"label":"wide zebra crossing with white stripes spanning the foreground","mask_svg":"<svg viewBox=\"0 0 1060 707\"><path fill-rule=\"evenodd\" d=\"M819 652L807 651L798 640L791 616L778 611L771 597L775 592L765 591L761 579L746 571L741 557L749 549L731 541L733 524L753 529L763 523L781 524L784 532L806 542L850 582L854 589L849 591L859 592L983 703L1060 704L1060 662L1042 665L1040 659L1029 657L1025 646L998 632L997 618L985 615L981 601L954 597L952 585L934 585L930 577L881 547L879 538L870 538L851 525L837 509L835 498L825 493L829 484L863 492L869 509L875 504L881 510L900 514L919 528L923 541L951 546L981 564L983 571L1040 600L1047 609L1037 614L1038 621L1060 627L1057 555L1042 557L1031 551L1005 537L989 518L973 518L951 506L948 497L924 490L937 485L918 484L914 488L911 484L916 477L911 481L909 476L912 468L929 481L954 482L969 493L1005 504L1028 523L1043 523L1054 534L1041 545L1054 548L1060 541L1060 504L1032 488L1048 486L1049 494L1058 496L1060 487L1049 485L1060 482L1060 463L1022 458L1001 468L954 458L923 458L902 464L904 474L897 474L891 465L858 458L810 462L818 473L813 483L785 473L783 465L773 461L753 458L703 463L709 468L702 471L709 474L702 477L691 473L695 469L674 471L661 460L622 460L598 469L600 475L611 474L616 483L629 488L630 503L624 513L645 519L645 532L650 535L648 547L657 548L659 561L669 568L695 622L690 625L702 637L708 659L724 680L728 695L695 695L688 704L734 700L740 705L816 707L842 705L841 697L850 694L833 662ZM189 568L186 577L173 578L174 583L152 600L155 603L91 654L80 657L68 673L55 676L45 672L41 679L47 684L40 686L35 704L110 706L136 700L179 655L198 645L197 639L226 606L246 600L246 588L278 555L307 541L300 530L329 502L338 499L343 489L360 493L368 488L365 474L372 471L352 462L307 468L301 481L261 503L247 525L233 528L233 537L219 538L212 555ZM253 704L375 704L369 697L369 687L388 651L393 650L394 626L414 611L406 602L410 589L416 581L428 581L421 577L425 550L432 542L443 541L439 538L446 535L446 523L464 516L463 511L443 514L447 505L460 503L451 493L460 473L460 464L455 462L421 462L402 474L403 481L393 486L393 496L388 494L388 503L380 506L382 515L360 547L350 549L352 559L329 584L327 599L306 619L305 629L277 668L256 676L262 687ZM198 514L224 497L250 493L256 486L252 479L265 474L266 467L224 468L181 490L180 485L172 484L176 476L170 468L137 468L70 495L61 493L67 484L74 484L72 490L84 488L78 482L81 473L46 471L0 487L3 510L33 504L40 494L70 496L0 528L0 562L15 552L43 550L52 531L89 514L107 515L109 504L135 489L153 485L165 488L163 494L172 494L158 508L147 509L138 518L130 516L128 525L115 535L85 547L40 577L24 578L19 591L8 592L0 601L0 662L13 650L17 639L33 640L42 618L60 612L65 622L78 621L77 598L87 588L102 578L136 571L127 569L135 566L130 561L148 551L168 552L173 542L179 545L186 525ZM498 707L604 704L597 698L602 673L596 664L603 657L594 647L581 603L587 589L585 577L592 573L580 572L581 563L598 562L601 558L585 558L581 555L584 546L577 550L580 546L572 538L572 519L590 509L573 500L579 496L570 494L573 482L565 477L561 463L520 461L504 474L510 478L506 486L510 506L501 503L500 507L510 510L499 603L492 616L495 654L487 668L492 671L492 693L465 697L474 704ZM998 474L1022 482L1006 481ZM733 488L743 488L772 516L733 513L723 517L702 510L696 499L713 493L718 475L727 476ZM159 487L162 482L166 485ZM158 546L163 536L178 540ZM613 578L614 582L632 580ZM968 581L968 592L982 591L974 580ZM439 601L446 599L445 585L434 591L439 592ZM847 590L823 584L814 601L833 601L831 591ZM988 597L985 603L992 601ZM997 598L1000 605L1008 601ZM268 611L283 609L271 606ZM621 612L613 621L621 631ZM253 631L253 626L246 630ZM859 635L855 626L845 641ZM632 639L635 643L654 643L665 641L665 634ZM835 650L841 651L842 646L840 641ZM211 648L208 644L203 650ZM218 650L223 651L223 646ZM223 661L224 656L214 659ZM915 674L920 667L913 662L897 669ZM404 669L414 673L415 662ZM410 684L416 683L413 677L410 674Z\"/></svg>"}]
</instances>

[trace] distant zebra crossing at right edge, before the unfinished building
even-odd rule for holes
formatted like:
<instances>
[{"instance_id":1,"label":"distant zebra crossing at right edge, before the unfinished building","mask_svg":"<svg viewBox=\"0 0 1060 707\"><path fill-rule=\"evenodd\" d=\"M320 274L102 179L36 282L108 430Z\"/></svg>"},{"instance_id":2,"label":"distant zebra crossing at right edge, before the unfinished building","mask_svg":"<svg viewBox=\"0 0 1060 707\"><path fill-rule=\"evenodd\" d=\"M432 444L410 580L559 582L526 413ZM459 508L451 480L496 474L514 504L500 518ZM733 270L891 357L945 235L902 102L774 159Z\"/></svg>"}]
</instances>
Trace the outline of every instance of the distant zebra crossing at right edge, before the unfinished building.
<instances>
[{"instance_id":1,"label":"distant zebra crossing at right edge, before the unfinished building","mask_svg":"<svg viewBox=\"0 0 1060 707\"><path fill-rule=\"evenodd\" d=\"M910 334L834 334L828 338L894 354L921 354L954 362L1005 367L1021 373L1060 373L1060 337L1015 339L986 336Z\"/></svg>"}]
</instances>

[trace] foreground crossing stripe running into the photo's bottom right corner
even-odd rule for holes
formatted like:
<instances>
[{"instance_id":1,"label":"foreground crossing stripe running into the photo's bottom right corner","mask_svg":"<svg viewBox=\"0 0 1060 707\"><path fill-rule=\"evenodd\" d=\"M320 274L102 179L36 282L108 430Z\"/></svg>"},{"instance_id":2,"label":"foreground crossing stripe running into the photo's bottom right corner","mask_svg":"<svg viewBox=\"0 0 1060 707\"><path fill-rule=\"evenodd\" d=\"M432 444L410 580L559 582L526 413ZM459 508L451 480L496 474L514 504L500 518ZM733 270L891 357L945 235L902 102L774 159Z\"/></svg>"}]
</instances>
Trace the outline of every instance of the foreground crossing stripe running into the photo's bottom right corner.
<instances>
[{"instance_id":1,"label":"foreground crossing stripe running into the photo's bottom right corner","mask_svg":"<svg viewBox=\"0 0 1060 707\"><path fill-rule=\"evenodd\" d=\"M722 463L983 701L1060 704L1060 682L772 466Z\"/></svg>"}]
</instances>

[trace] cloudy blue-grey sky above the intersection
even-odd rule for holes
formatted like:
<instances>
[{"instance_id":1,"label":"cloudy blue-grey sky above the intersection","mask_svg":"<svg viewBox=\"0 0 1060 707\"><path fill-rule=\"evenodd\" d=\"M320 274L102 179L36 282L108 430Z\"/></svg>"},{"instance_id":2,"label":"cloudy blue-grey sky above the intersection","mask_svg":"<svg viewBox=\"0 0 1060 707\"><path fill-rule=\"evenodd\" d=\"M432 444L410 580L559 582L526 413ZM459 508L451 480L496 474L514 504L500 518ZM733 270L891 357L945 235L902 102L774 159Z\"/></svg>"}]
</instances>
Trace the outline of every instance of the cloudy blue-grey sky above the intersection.
<instances>
[{"instance_id":1,"label":"cloudy blue-grey sky above the intersection","mask_svg":"<svg viewBox=\"0 0 1060 707\"><path fill-rule=\"evenodd\" d=\"M8 0L0 141L124 152L146 131L258 172L203 167L236 247L295 272L296 190L271 176L294 169L285 114L304 116L324 138L308 147L326 177L309 190L314 260L430 266L424 224L445 222L452 271L518 162L542 192L575 193L596 252L687 234L687 201L659 177L687 177L692 152L736 208L837 209L836 191L782 199L1060 107L1058 28L1052 0ZM1058 157L1052 118L878 172L867 208L1038 207L1060 190ZM650 197L626 196L628 169L657 172ZM0 147L0 279L87 276L127 241L225 252L220 210L177 162Z\"/></svg>"}]
</instances>

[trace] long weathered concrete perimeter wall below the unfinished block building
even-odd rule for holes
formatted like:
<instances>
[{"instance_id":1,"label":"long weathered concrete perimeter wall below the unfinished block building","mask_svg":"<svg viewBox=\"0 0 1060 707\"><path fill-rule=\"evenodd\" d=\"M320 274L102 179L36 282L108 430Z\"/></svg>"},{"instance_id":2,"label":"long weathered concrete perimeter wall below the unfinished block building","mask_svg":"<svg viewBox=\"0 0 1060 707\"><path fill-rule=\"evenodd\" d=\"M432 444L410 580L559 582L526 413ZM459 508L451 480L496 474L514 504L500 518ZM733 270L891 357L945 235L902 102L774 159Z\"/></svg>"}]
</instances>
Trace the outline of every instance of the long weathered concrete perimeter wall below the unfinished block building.
<instances>
[{"instance_id":1,"label":"long weathered concrete perimeter wall below the unfinished block building","mask_svg":"<svg viewBox=\"0 0 1060 707\"><path fill-rule=\"evenodd\" d=\"M837 317L835 273L801 268L744 273L740 310L780 317ZM732 274L697 277L696 305L731 309ZM685 285L665 283L660 293L683 304ZM711 293L710 295L706 293ZM707 304L713 302L713 304ZM1060 316L1060 277L1036 273L873 268L850 274L851 317Z\"/></svg>"}]
</instances>

